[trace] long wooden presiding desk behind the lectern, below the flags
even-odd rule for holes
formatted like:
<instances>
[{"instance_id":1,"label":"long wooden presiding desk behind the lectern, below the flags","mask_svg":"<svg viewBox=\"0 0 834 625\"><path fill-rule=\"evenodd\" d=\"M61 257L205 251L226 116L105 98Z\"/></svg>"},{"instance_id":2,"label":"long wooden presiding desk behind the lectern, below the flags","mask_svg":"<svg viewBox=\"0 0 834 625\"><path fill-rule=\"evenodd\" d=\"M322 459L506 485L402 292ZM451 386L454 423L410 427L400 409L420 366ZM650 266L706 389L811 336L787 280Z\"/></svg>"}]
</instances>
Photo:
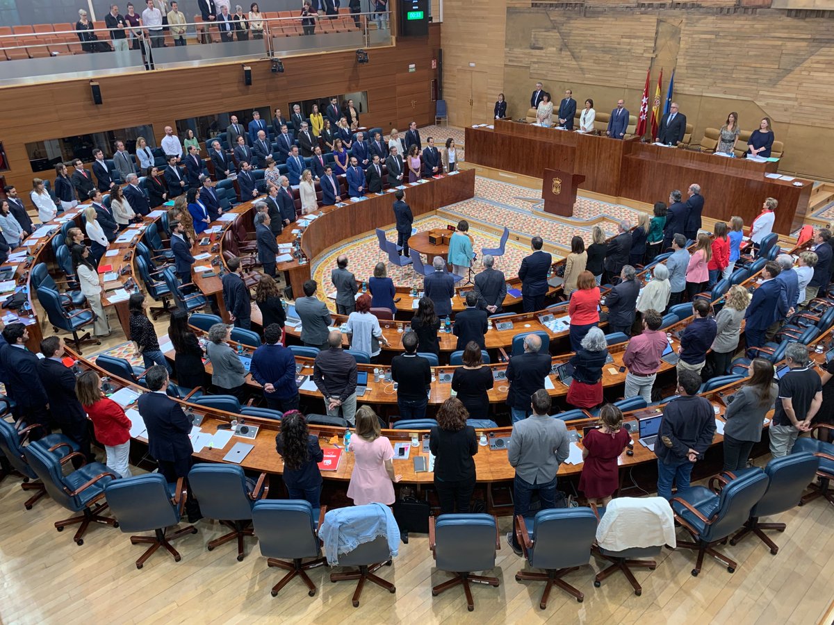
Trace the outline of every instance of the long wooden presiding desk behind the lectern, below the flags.
<instances>
[{"instance_id":1,"label":"long wooden presiding desk behind the lectern, below the flags","mask_svg":"<svg viewBox=\"0 0 834 625\"><path fill-rule=\"evenodd\" d=\"M466 128L466 161L542 178L545 168L585 176L580 190L617 201L628 198L653 205L678 189L686 198L701 185L706 217L729 222L740 216L749 226L765 198L776 198L774 231L801 227L813 181L781 179L778 163L755 162L716 154L641 143L639 138L612 139L590 133L496 120L495 128Z\"/></svg>"}]
</instances>

